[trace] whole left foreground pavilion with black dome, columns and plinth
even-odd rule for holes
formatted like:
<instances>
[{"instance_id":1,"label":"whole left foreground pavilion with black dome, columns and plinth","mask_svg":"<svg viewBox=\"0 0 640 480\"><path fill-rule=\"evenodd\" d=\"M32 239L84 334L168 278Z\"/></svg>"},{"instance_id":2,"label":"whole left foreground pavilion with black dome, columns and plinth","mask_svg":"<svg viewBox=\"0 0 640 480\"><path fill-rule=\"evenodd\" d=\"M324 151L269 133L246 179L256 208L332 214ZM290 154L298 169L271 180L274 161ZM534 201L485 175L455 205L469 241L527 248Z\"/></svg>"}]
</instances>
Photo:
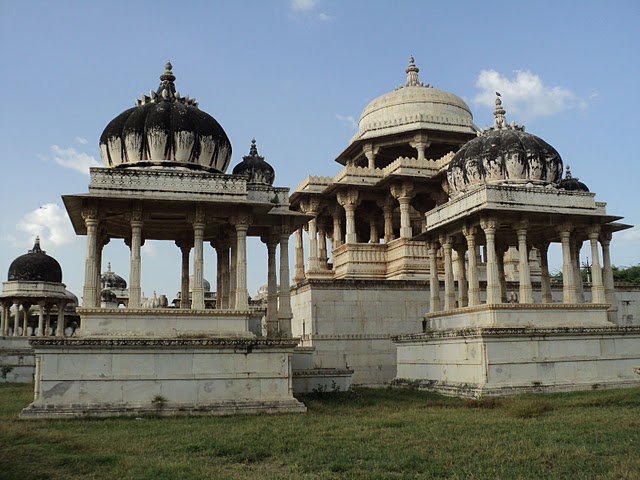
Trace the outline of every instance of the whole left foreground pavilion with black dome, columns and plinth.
<instances>
[{"instance_id":1,"label":"whole left foreground pavilion with black dome, columns and plinth","mask_svg":"<svg viewBox=\"0 0 640 480\"><path fill-rule=\"evenodd\" d=\"M35 400L23 418L139 415L154 410L156 397L164 399L165 414L305 409L291 387L297 341L291 338L288 242L308 217L290 209L288 188L273 186L274 169L257 156L255 141L250 168L245 157L235 174L225 173L229 138L195 99L178 92L175 80L167 63L158 88L104 129L104 167L91 169L89 192L63 196L75 232L87 239L81 328L62 343L32 340L41 362ZM250 329L249 236L266 244L266 337L261 328ZM180 298L190 299L180 308L142 297L140 249L147 240L177 247ZM130 249L126 308L117 308L109 292L113 286L124 290L126 282L110 269L100 274L110 241ZM216 259L215 308L205 303L209 251ZM59 371L63 358L67 369Z\"/></svg>"}]
</instances>

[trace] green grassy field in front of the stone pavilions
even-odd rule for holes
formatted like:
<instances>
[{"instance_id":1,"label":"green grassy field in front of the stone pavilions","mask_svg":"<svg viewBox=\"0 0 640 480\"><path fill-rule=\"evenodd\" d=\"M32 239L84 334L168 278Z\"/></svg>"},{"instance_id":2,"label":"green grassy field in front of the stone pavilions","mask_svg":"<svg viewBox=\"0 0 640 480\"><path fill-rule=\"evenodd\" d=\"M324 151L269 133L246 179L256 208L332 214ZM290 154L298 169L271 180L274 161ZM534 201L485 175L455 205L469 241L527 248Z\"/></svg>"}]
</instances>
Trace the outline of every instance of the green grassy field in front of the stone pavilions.
<instances>
[{"instance_id":1,"label":"green grassy field in front of the stone pavilions","mask_svg":"<svg viewBox=\"0 0 640 480\"><path fill-rule=\"evenodd\" d=\"M0 385L2 479L640 479L640 389L480 401L305 397L306 414L18 421Z\"/></svg>"}]
</instances>

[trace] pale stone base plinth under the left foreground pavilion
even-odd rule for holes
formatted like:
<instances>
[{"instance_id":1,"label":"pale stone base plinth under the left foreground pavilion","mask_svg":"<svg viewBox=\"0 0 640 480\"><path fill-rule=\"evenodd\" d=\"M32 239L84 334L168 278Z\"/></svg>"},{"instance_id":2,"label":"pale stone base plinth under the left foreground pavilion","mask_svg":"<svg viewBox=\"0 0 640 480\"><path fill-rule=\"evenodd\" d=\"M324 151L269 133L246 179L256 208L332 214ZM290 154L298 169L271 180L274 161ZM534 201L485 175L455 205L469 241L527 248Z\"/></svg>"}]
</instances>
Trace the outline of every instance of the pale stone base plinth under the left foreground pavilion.
<instances>
[{"instance_id":1,"label":"pale stone base plinth under the left foreground pavilion","mask_svg":"<svg viewBox=\"0 0 640 480\"><path fill-rule=\"evenodd\" d=\"M292 339L34 338L20 418L303 412Z\"/></svg>"}]
</instances>

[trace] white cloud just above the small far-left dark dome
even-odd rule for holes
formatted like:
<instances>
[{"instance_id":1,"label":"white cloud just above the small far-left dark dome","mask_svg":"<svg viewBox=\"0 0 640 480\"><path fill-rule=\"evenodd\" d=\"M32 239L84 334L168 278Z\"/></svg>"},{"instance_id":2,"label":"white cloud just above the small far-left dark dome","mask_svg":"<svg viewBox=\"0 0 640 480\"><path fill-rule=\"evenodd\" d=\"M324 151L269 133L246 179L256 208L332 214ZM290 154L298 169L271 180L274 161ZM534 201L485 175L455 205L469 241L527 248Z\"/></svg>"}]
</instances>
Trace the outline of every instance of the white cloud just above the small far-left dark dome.
<instances>
[{"instance_id":1,"label":"white cloud just above the small far-left dark dome","mask_svg":"<svg viewBox=\"0 0 640 480\"><path fill-rule=\"evenodd\" d=\"M44 245L68 245L76 239L66 210L55 203L47 203L25 214L18 221L16 229L26 234L20 243L30 246L36 235L40 236Z\"/></svg>"}]
</instances>

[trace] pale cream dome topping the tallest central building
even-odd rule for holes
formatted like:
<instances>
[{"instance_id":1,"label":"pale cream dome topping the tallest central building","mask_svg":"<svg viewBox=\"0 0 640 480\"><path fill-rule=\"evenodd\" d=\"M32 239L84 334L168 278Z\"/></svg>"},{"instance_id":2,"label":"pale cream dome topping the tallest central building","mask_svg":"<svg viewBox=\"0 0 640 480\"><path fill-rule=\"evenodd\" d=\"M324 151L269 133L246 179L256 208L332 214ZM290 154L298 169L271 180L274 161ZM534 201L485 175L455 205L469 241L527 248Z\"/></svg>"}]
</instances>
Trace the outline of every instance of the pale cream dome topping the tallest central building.
<instances>
[{"instance_id":1,"label":"pale cream dome topping the tallest central building","mask_svg":"<svg viewBox=\"0 0 640 480\"><path fill-rule=\"evenodd\" d=\"M404 86L385 93L365 107L352 141L419 128L475 133L469 106L457 95L425 85L418 80L413 57L406 69Z\"/></svg>"}]
</instances>

